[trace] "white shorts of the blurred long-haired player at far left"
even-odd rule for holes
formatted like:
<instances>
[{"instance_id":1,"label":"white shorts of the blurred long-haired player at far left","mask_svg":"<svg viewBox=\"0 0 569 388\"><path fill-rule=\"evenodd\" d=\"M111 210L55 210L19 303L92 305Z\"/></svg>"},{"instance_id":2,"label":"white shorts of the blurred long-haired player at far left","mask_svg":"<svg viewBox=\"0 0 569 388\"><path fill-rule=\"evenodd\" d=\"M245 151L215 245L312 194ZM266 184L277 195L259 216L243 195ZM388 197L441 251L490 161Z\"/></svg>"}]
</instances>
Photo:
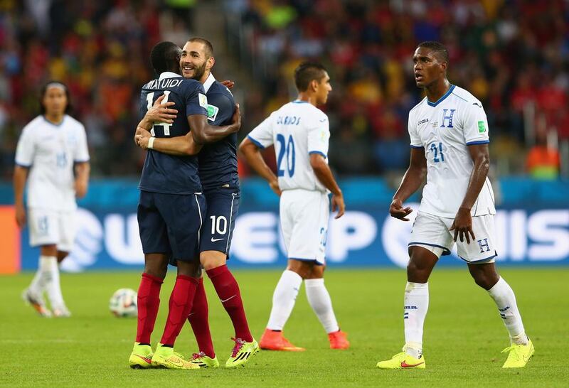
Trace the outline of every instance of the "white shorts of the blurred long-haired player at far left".
<instances>
[{"instance_id":1,"label":"white shorts of the blurred long-haired player at far left","mask_svg":"<svg viewBox=\"0 0 569 388\"><path fill-rule=\"evenodd\" d=\"M75 240L75 211L28 209L30 245L57 245L58 251L71 252Z\"/></svg>"}]
</instances>

